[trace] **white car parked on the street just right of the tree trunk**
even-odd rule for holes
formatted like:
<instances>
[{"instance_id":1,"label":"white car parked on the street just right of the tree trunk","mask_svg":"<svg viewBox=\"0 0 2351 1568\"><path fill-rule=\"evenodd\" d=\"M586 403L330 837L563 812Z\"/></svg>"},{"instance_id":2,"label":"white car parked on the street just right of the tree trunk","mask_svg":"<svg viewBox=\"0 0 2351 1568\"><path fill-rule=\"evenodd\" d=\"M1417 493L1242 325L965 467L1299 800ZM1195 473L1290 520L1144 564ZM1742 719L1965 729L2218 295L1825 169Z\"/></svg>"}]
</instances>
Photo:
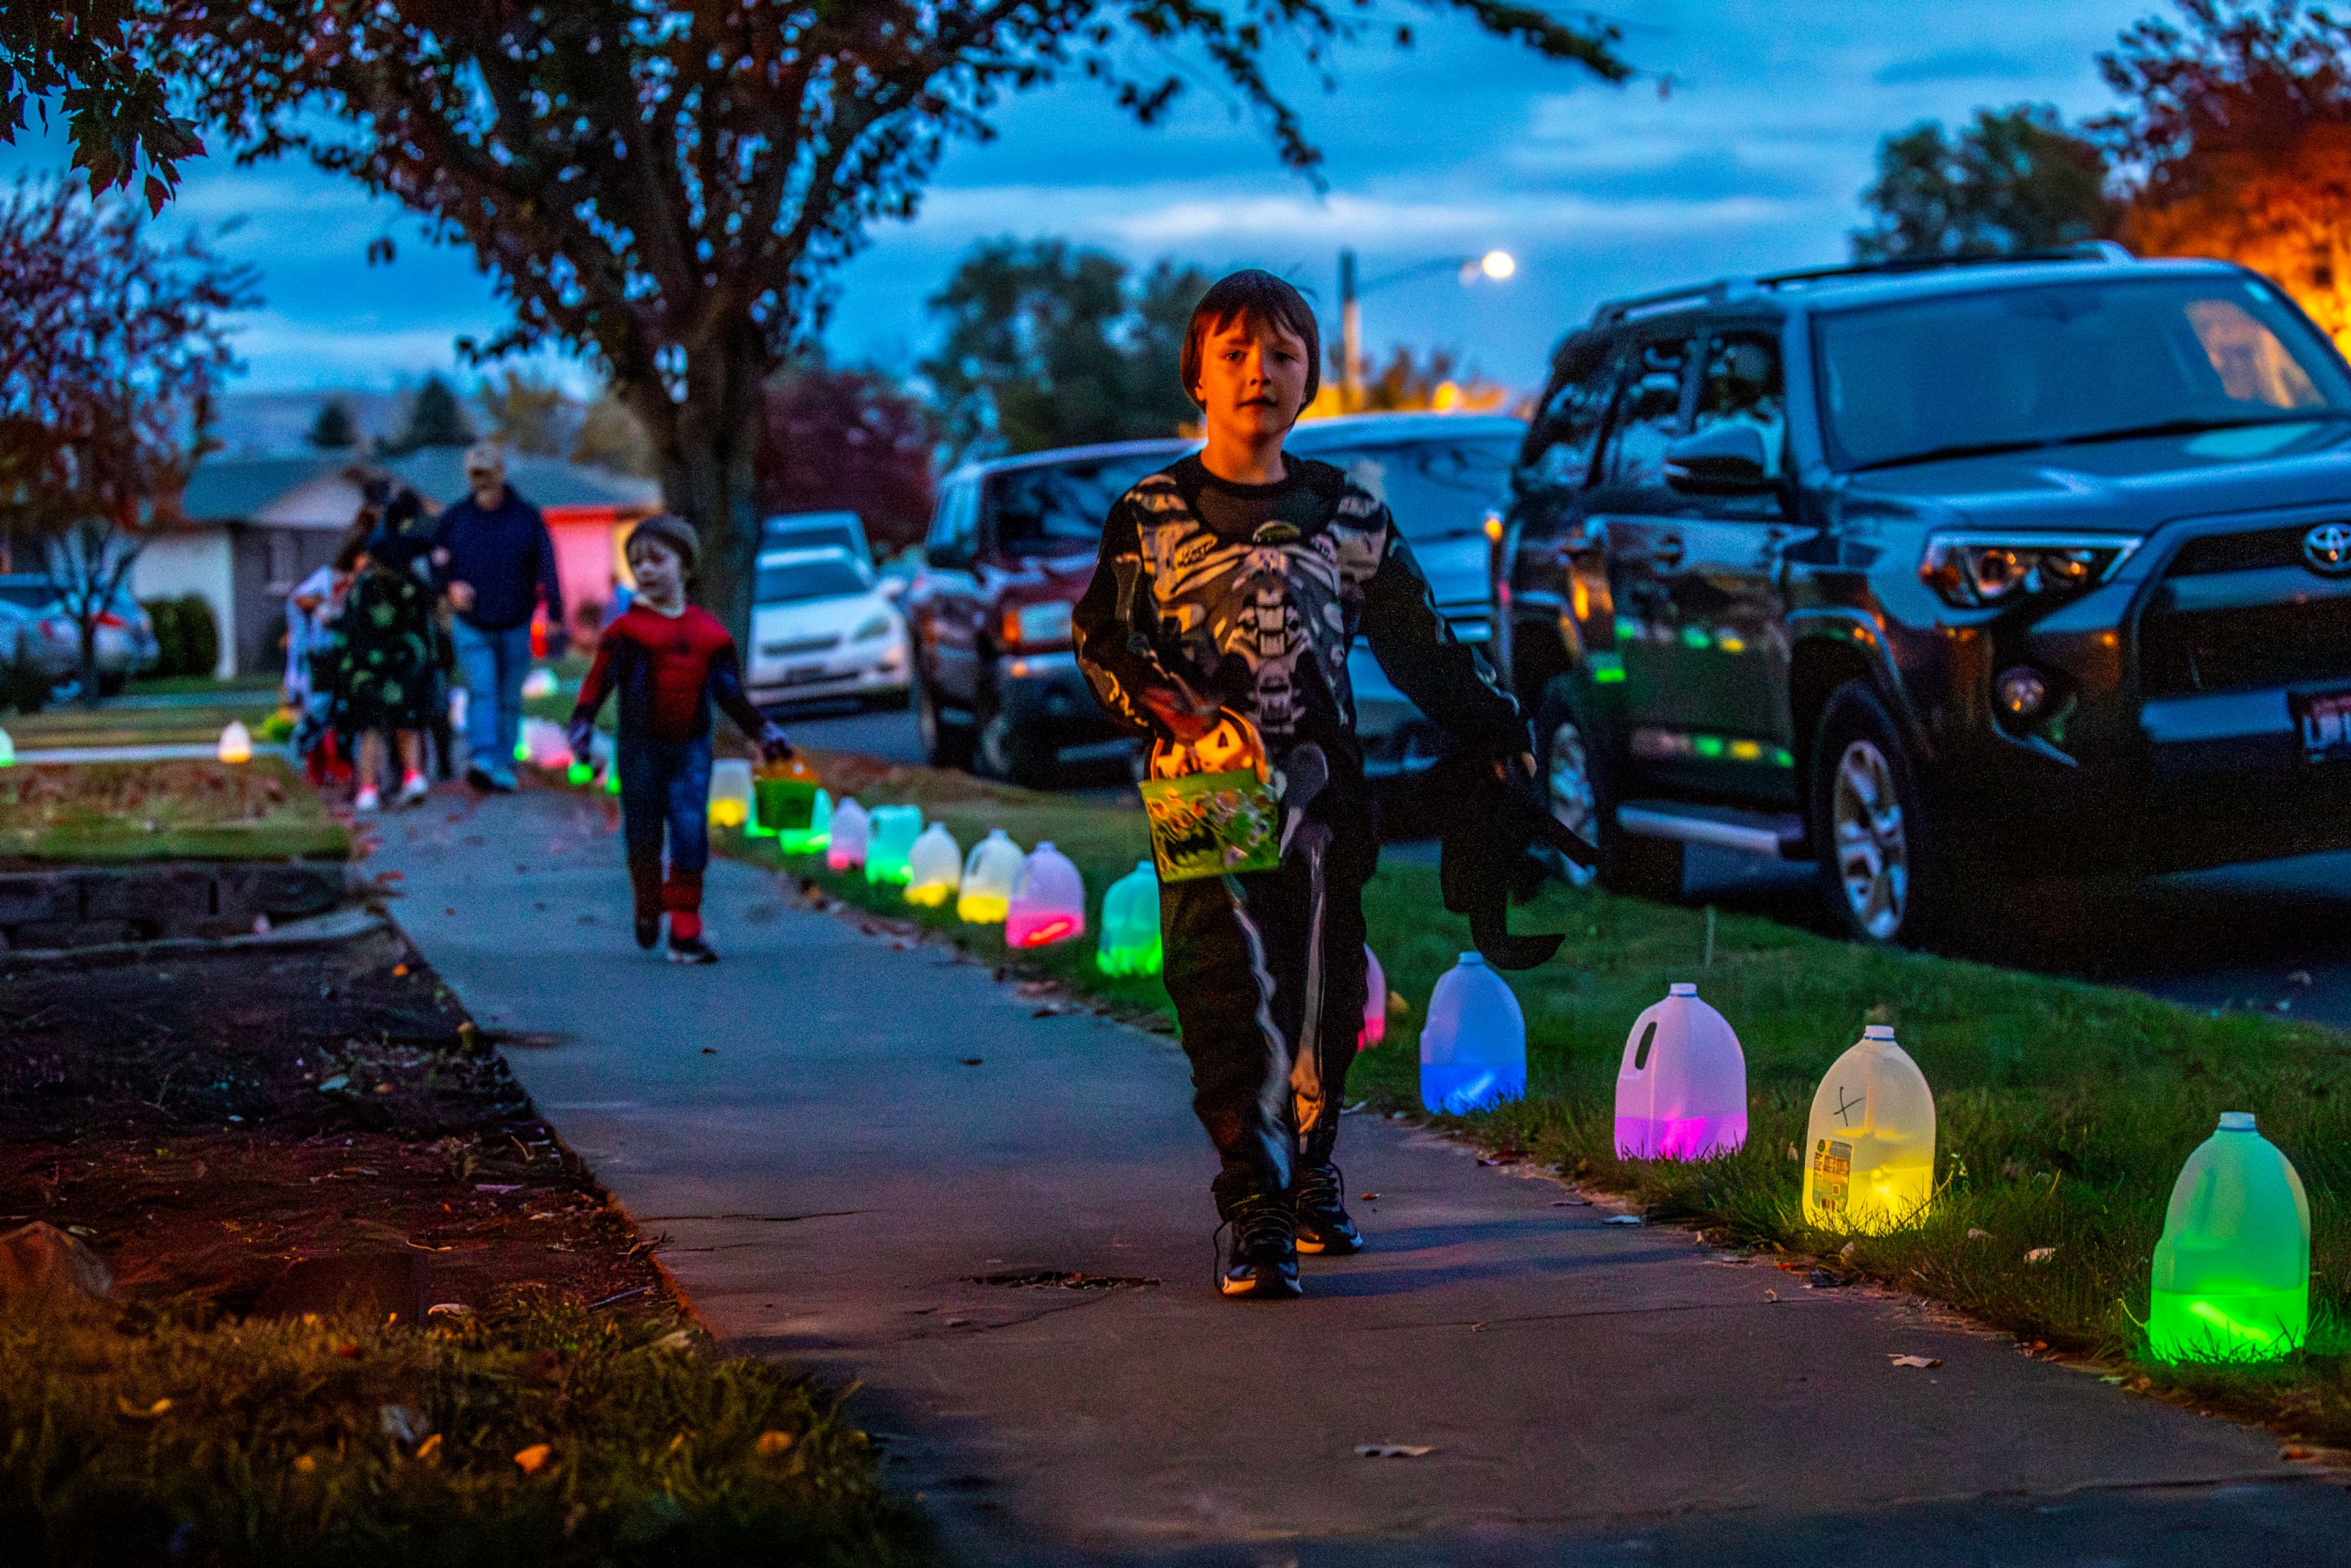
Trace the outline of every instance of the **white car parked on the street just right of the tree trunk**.
<instances>
[{"instance_id":1,"label":"white car parked on the street just right of the tree trunk","mask_svg":"<svg viewBox=\"0 0 2351 1568\"><path fill-rule=\"evenodd\" d=\"M872 567L842 548L764 550L750 595L750 675L759 708L858 701L905 708L905 616Z\"/></svg>"}]
</instances>

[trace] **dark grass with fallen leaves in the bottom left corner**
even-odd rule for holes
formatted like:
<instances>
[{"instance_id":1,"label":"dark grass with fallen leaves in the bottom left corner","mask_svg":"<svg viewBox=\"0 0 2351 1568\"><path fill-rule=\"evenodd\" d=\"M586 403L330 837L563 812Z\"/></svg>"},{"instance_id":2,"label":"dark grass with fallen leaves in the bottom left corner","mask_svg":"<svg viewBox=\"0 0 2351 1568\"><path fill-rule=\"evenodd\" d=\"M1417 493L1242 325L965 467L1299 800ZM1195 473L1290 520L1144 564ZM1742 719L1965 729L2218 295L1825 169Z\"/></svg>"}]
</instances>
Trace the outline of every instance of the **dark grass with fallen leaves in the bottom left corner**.
<instances>
[{"instance_id":1,"label":"dark grass with fallen leaves in the bottom left corner","mask_svg":"<svg viewBox=\"0 0 2351 1568\"><path fill-rule=\"evenodd\" d=\"M5 1316L0 1432L31 1561L924 1559L830 1396L665 1316Z\"/></svg>"}]
</instances>

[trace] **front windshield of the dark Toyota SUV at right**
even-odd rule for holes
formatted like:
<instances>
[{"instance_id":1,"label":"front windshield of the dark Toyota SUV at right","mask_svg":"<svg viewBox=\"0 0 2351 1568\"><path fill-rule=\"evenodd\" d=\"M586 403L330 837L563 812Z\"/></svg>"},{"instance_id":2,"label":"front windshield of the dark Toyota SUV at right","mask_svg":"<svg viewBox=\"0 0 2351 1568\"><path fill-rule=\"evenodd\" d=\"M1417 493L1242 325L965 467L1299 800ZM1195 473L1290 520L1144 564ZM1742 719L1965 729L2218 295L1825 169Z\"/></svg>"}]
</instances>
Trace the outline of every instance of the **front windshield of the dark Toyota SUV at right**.
<instances>
[{"instance_id":1,"label":"front windshield of the dark Toyota SUV at right","mask_svg":"<svg viewBox=\"0 0 2351 1568\"><path fill-rule=\"evenodd\" d=\"M2149 277L1817 317L1843 468L2351 411L2351 378L2266 284Z\"/></svg>"}]
</instances>

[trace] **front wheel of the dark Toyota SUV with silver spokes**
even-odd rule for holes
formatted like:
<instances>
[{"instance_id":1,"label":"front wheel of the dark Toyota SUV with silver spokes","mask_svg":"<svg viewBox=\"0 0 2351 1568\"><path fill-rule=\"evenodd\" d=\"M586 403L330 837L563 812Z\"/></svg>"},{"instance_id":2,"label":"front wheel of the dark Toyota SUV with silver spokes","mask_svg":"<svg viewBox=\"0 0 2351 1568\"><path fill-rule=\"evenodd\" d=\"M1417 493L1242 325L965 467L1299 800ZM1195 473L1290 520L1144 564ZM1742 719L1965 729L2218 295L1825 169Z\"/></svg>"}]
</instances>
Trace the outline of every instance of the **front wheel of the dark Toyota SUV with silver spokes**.
<instances>
[{"instance_id":1,"label":"front wheel of the dark Toyota SUV with silver spokes","mask_svg":"<svg viewBox=\"0 0 2351 1568\"><path fill-rule=\"evenodd\" d=\"M1836 924L1860 943L1925 936L1949 896L1909 748L1878 696L1838 686L1813 743L1813 830L1820 891Z\"/></svg>"}]
</instances>

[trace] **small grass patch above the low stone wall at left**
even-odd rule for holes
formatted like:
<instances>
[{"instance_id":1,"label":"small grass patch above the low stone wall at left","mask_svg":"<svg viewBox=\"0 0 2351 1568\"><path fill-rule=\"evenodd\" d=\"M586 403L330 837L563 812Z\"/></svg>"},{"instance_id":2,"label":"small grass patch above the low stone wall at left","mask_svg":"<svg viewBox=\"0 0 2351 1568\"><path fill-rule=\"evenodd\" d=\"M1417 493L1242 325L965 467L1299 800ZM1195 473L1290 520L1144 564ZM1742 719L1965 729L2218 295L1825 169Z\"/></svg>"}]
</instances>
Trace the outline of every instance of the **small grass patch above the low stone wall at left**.
<instances>
[{"instance_id":1,"label":"small grass patch above the low stone wall at left","mask_svg":"<svg viewBox=\"0 0 2351 1568\"><path fill-rule=\"evenodd\" d=\"M0 769L0 860L289 860L350 837L275 755Z\"/></svg>"}]
</instances>

